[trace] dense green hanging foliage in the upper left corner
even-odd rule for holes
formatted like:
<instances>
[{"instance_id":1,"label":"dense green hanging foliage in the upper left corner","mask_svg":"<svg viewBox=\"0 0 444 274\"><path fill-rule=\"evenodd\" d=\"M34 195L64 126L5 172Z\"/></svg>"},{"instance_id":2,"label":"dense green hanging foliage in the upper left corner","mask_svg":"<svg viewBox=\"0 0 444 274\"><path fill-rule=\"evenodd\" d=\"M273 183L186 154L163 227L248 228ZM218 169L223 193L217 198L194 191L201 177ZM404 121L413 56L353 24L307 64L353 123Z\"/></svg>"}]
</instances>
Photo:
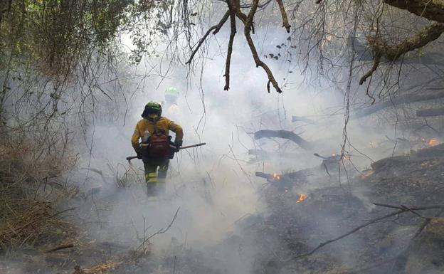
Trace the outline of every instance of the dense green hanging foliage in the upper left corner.
<instances>
[{"instance_id":1,"label":"dense green hanging foliage in the upper left corner","mask_svg":"<svg viewBox=\"0 0 444 274\"><path fill-rule=\"evenodd\" d=\"M0 68L6 56L30 58L50 74L69 73L78 60L115 42L132 0L21 0L0 22Z\"/></svg>"}]
</instances>

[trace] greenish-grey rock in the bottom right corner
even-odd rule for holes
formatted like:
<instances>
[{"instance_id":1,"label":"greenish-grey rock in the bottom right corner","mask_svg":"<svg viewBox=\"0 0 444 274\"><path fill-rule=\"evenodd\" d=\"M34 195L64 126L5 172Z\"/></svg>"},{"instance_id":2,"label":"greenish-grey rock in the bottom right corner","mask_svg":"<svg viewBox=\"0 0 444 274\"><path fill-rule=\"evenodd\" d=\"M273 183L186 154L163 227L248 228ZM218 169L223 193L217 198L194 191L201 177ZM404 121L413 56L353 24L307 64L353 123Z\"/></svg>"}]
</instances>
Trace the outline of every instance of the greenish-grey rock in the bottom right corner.
<instances>
[{"instance_id":1,"label":"greenish-grey rock in the bottom right corner","mask_svg":"<svg viewBox=\"0 0 444 274\"><path fill-rule=\"evenodd\" d=\"M406 274L444 273L444 218L433 218L411 246Z\"/></svg>"}]
</instances>

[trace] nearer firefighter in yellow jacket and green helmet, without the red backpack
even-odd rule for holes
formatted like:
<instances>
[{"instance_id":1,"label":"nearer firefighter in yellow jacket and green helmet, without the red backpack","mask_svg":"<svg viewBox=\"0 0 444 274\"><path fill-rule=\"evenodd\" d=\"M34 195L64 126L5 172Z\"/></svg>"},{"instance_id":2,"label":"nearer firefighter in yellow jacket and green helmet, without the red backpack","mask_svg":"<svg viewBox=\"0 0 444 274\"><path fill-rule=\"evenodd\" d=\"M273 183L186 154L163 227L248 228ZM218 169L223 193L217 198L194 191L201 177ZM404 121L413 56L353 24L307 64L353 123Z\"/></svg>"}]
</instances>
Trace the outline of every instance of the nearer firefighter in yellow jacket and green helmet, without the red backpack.
<instances>
[{"instance_id":1,"label":"nearer firefighter in yellow jacket and green helmet, without the red backpack","mask_svg":"<svg viewBox=\"0 0 444 274\"><path fill-rule=\"evenodd\" d=\"M144 163L145 181L147 182L147 194L149 196L154 196L157 186L160 186L160 189L164 189L169 158L149 157L143 144L149 142L149 137L152 136L154 132L162 132L162 134L168 136L169 130L171 130L176 133L174 146L176 147L176 151L178 151L182 145L182 138L184 137L184 132L180 125L161 115L162 106L159 103L149 102L145 105L144 112L142 113L143 119L137 122L131 138L132 147L134 147L137 153L137 158L142 159ZM139 139L142 139L141 143L139 143ZM159 169L159 171L157 169Z\"/></svg>"}]
</instances>

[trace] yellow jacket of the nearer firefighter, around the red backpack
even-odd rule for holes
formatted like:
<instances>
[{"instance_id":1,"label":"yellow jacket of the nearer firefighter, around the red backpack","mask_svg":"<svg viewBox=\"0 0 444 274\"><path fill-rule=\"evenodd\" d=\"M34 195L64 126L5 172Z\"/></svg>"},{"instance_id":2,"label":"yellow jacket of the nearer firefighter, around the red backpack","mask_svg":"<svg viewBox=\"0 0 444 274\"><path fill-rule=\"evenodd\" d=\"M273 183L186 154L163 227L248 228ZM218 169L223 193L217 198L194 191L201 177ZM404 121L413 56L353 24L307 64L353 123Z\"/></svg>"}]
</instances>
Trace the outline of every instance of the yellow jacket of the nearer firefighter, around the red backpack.
<instances>
[{"instance_id":1,"label":"yellow jacket of the nearer firefighter, around the red backpack","mask_svg":"<svg viewBox=\"0 0 444 274\"><path fill-rule=\"evenodd\" d=\"M144 117L142 120L137 122L134 133L132 134L131 144L137 154L141 153L139 139L146 135L145 132L147 130L149 132L149 135L152 135L154 133L154 121L156 120L156 129L158 131L162 131L165 133L165 135L169 135L169 131L171 130L172 132L176 133L176 141L181 141L184 137L184 131L182 130L182 127L180 125L177 125L175 122L169 120L166 117L149 115L149 117Z\"/></svg>"}]
</instances>

